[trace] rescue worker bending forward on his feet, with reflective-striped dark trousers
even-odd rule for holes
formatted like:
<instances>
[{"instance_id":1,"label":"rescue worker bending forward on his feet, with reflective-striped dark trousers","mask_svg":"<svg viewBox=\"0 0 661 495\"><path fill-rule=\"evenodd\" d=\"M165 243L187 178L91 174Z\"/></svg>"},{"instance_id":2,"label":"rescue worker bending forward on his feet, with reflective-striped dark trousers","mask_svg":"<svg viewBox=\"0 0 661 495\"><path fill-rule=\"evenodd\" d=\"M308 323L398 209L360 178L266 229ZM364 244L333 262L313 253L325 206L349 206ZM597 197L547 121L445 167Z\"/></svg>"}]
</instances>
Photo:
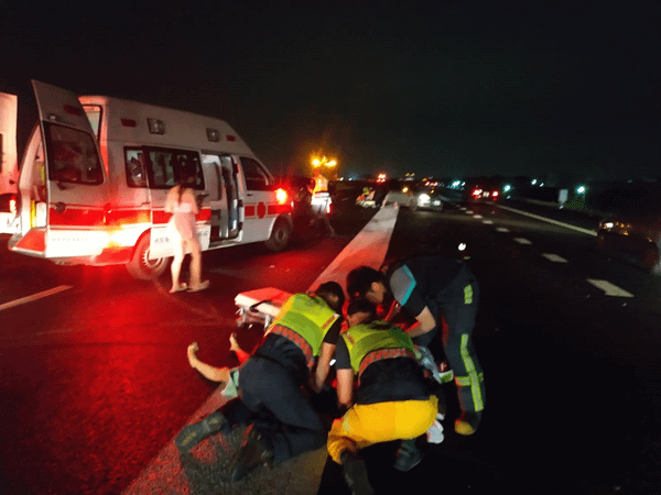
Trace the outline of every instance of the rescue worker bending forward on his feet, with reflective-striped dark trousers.
<instances>
[{"instance_id":1,"label":"rescue worker bending forward on his feet, with reflective-striped dark trousers","mask_svg":"<svg viewBox=\"0 0 661 495\"><path fill-rule=\"evenodd\" d=\"M418 345L429 348L442 334L462 408L455 431L473 435L485 407L485 383L472 338L479 285L464 261L419 255L400 260L384 272L360 266L347 276L347 292L373 304L393 298L418 320L407 329ZM441 316L447 324L441 324Z\"/></svg>"}]
</instances>

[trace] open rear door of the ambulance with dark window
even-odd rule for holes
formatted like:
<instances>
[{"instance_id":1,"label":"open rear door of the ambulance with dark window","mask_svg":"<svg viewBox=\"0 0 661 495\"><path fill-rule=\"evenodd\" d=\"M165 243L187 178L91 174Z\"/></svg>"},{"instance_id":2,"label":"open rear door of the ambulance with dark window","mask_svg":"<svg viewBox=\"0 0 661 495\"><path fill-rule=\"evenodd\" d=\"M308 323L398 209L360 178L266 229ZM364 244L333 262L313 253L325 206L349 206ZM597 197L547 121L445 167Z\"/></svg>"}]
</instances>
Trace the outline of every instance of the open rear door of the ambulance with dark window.
<instances>
[{"instance_id":1,"label":"open rear door of the ambulance with dark window","mask_svg":"<svg viewBox=\"0 0 661 495\"><path fill-rule=\"evenodd\" d=\"M84 262L108 245L108 180L91 125L72 91L32 81L39 127L21 166L21 233L10 248Z\"/></svg>"}]
</instances>

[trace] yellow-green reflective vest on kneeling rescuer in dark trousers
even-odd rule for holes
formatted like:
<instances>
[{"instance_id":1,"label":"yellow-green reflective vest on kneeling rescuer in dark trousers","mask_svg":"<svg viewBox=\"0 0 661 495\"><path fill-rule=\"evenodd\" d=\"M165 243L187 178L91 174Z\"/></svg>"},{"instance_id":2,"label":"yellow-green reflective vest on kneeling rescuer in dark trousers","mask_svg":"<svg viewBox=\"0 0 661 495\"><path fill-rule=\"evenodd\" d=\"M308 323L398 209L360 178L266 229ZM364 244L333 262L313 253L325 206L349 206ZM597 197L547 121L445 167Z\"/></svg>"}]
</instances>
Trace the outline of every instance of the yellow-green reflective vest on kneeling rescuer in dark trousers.
<instances>
[{"instance_id":1,"label":"yellow-green reflective vest on kneeling rescuer in dark trousers","mask_svg":"<svg viewBox=\"0 0 661 495\"><path fill-rule=\"evenodd\" d=\"M319 355L324 337L339 315L318 296L294 294L280 309L268 332L292 340L305 354L307 364Z\"/></svg>"}]
</instances>

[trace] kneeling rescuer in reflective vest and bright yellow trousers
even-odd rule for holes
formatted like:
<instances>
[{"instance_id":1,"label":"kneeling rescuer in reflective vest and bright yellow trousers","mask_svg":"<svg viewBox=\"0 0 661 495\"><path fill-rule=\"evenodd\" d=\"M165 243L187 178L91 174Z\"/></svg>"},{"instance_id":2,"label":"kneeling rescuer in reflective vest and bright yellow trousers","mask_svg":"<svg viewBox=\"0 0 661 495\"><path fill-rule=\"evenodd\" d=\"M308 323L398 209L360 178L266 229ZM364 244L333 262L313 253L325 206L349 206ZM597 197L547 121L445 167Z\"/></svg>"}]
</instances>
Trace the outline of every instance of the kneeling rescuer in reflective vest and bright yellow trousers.
<instances>
[{"instance_id":1,"label":"kneeling rescuer in reflective vest and bright yellow trousers","mask_svg":"<svg viewBox=\"0 0 661 495\"><path fill-rule=\"evenodd\" d=\"M351 301L347 320L349 327L337 341L335 369L337 398L348 410L333 422L327 448L343 465L354 495L367 495L373 490L358 450L404 440L394 468L411 470L422 460L415 442L435 425L438 398L427 386L411 338L399 327L377 320L371 302Z\"/></svg>"}]
</instances>

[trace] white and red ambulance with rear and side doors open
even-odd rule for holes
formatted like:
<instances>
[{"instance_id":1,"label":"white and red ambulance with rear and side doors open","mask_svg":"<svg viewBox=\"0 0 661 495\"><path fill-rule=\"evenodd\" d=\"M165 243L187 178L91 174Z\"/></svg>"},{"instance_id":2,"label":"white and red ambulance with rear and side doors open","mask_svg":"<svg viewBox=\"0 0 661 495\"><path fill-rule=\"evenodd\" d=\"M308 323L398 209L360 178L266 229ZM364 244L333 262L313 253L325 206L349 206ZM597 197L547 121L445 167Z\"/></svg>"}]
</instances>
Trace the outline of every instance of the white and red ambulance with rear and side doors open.
<instances>
[{"instance_id":1,"label":"white and red ambulance with rear and side doors open","mask_svg":"<svg viewBox=\"0 0 661 495\"><path fill-rule=\"evenodd\" d=\"M192 178L201 206L203 250L286 248L292 198L225 121L78 97L35 80L32 87L40 122L15 167L15 211L4 229L10 250L56 264L124 264L137 278L158 277L173 255L165 198L182 176Z\"/></svg>"}]
</instances>

